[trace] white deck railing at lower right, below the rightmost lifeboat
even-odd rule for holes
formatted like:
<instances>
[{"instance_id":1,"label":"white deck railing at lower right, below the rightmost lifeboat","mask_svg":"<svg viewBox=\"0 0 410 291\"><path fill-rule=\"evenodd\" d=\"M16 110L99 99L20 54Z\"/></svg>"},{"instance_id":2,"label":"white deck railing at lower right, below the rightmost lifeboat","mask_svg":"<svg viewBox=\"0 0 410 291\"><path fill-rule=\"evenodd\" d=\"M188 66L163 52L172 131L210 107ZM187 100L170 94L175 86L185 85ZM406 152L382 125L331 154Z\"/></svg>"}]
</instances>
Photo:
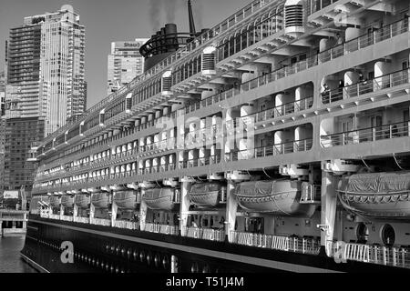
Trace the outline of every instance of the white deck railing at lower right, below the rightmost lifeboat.
<instances>
[{"instance_id":1,"label":"white deck railing at lower right, below the rightmost lifeboat","mask_svg":"<svg viewBox=\"0 0 410 291\"><path fill-rule=\"evenodd\" d=\"M332 246L331 256L339 261L357 261L384 266L410 268L410 248L403 246L380 246L329 242ZM340 248L342 246L342 256Z\"/></svg>"}]
</instances>

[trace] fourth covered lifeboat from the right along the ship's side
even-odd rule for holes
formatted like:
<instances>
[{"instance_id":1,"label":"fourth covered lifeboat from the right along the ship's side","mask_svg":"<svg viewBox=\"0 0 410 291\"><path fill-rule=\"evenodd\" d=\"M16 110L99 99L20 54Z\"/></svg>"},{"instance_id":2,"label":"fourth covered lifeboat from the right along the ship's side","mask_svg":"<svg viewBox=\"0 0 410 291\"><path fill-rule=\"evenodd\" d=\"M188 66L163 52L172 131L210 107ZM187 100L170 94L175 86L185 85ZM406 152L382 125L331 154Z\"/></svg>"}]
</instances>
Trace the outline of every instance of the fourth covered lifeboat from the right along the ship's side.
<instances>
[{"instance_id":1,"label":"fourth covered lifeboat from the right along the ship's side","mask_svg":"<svg viewBox=\"0 0 410 291\"><path fill-rule=\"evenodd\" d=\"M147 189L142 196L149 209L173 210L175 190L173 188L151 188Z\"/></svg>"}]
</instances>

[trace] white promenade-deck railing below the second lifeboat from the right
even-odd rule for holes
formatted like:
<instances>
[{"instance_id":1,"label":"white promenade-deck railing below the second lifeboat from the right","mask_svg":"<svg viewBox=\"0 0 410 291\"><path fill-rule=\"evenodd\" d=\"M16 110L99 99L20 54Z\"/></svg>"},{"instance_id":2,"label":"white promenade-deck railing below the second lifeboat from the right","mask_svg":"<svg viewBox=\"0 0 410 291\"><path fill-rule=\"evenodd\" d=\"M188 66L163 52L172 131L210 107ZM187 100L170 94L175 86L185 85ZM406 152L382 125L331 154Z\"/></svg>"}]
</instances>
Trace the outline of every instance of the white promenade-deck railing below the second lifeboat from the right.
<instances>
[{"instance_id":1,"label":"white promenade-deck railing below the second lifeboat from the right","mask_svg":"<svg viewBox=\"0 0 410 291\"><path fill-rule=\"evenodd\" d=\"M231 244L277 249L285 252L318 255L319 238L298 236L272 236L231 231Z\"/></svg>"}]
</instances>

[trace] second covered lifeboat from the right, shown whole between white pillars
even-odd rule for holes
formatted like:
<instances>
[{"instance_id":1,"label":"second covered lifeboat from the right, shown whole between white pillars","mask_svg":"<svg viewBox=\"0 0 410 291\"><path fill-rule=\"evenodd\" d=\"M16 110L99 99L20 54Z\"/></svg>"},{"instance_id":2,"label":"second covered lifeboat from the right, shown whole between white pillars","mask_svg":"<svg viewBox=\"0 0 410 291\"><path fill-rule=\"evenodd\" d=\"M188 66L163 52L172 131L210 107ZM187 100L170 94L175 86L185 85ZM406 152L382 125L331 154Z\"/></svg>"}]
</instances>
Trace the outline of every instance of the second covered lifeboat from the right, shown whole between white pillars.
<instances>
[{"instance_id":1,"label":"second covered lifeboat from the right, shown whole between white pillars","mask_svg":"<svg viewBox=\"0 0 410 291\"><path fill-rule=\"evenodd\" d=\"M302 182L270 180L242 182L235 187L241 208L278 216L313 216L316 206L301 204Z\"/></svg>"}]
</instances>

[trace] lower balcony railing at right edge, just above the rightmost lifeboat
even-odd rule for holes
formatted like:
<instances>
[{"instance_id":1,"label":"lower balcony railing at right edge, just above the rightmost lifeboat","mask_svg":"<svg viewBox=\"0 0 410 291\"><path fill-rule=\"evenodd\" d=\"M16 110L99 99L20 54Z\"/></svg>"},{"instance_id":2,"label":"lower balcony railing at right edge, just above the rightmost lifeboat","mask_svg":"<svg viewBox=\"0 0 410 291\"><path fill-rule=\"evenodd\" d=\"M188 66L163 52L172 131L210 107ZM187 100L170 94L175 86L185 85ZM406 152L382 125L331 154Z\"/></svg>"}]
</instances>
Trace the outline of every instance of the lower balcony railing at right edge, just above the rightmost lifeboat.
<instances>
[{"instance_id":1,"label":"lower balcony railing at right edge, just above the rightmost lifeboat","mask_svg":"<svg viewBox=\"0 0 410 291\"><path fill-rule=\"evenodd\" d=\"M346 146L410 136L409 128L410 121L404 121L390 125L367 127L337 134L321 135L321 144L323 147Z\"/></svg>"}]
</instances>

